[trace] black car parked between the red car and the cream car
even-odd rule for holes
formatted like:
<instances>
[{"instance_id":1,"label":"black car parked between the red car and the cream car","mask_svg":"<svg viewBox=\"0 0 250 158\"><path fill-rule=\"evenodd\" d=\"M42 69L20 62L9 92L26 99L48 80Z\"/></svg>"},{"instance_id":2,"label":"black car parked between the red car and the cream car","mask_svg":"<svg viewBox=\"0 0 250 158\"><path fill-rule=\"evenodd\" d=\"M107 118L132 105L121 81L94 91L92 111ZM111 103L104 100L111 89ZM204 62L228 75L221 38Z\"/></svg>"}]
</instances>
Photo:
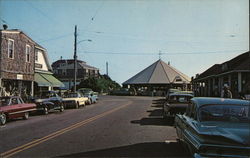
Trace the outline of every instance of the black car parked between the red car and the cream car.
<instances>
[{"instance_id":1,"label":"black car parked between the red car and the cream car","mask_svg":"<svg viewBox=\"0 0 250 158\"><path fill-rule=\"evenodd\" d=\"M41 111L45 115L51 110L64 111L63 100L55 91L42 92L39 99L35 99L34 102L37 105L37 111Z\"/></svg>"}]
</instances>

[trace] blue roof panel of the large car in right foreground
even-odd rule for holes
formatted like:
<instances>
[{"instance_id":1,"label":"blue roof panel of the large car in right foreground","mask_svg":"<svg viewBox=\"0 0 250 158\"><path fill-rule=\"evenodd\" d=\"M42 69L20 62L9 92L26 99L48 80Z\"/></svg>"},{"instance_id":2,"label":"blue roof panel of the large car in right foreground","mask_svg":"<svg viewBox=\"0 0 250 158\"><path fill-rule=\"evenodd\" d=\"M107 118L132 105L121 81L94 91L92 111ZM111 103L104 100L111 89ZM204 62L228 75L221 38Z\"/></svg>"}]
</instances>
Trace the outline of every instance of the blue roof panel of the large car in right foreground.
<instances>
[{"instance_id":1,"label":"blue roof panel of the large car in right foreground","mask_svg":"<svg viewBox=\"0 0 250 158\"><path fill-rule=\"evenodd\" d=\"M197 106L208 104L236 104L236 105L249 105L249 100L230 99L230 98L214 98L214 97L194 97L191 99Z\"/></svg>"}]
</instances>

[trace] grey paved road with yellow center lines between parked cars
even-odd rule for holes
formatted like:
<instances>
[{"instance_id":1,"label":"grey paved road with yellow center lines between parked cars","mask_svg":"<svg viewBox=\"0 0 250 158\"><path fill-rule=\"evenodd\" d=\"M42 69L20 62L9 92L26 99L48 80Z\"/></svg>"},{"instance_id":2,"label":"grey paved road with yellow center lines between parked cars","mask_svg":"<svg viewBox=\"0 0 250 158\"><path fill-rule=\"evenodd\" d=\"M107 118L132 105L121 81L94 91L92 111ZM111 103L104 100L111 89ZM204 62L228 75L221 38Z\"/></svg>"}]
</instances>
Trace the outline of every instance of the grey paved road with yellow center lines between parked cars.
<instances>
[{"instance_id":1,"label":"grey paved road with yellow center lines between parked cars","mask_svg":"<svg viewBox=\"0 0 250 158\"><path fill-rule=\"evenodd\" d=\"M0 127L1 156L187 157L159 99L102 96L85 108L8 122Z\"/></svg>"}]
</instances>

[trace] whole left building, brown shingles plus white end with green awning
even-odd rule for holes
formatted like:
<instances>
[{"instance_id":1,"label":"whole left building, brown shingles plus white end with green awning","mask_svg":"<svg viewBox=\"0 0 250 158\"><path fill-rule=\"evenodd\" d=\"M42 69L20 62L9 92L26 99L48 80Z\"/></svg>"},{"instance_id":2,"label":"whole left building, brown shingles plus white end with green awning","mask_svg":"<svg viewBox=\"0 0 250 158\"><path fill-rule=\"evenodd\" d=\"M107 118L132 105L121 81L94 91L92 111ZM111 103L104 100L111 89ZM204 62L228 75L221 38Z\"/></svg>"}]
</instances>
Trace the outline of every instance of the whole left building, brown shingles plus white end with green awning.
<instances>
[{"instance_id":1,"label":"whole left building, brown shingles plus white end with green awning","mask_svg":"<svg viewBox=\"0 0 250 158\"><path fill-rule=\"evenodd\" d=\"M18 29L1 30L0 96L23 98L63 87L53 77L46 49Z\"/></svg>"}]
</instances>

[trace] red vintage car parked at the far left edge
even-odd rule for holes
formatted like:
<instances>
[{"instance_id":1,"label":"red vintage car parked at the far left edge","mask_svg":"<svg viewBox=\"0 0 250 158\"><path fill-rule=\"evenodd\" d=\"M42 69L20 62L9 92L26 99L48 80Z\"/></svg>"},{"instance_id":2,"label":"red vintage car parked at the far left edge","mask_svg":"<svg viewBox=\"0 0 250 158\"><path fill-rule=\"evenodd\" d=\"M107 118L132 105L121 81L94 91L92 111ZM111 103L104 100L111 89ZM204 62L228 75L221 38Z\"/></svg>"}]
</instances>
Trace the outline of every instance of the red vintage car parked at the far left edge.
<instances>
[{"instance_id":1,"label":"red vintage car parked at the far left edge","mask_svg":"<svg viewBox=\"0 0 250 158\"><path fill-rule=\"evenodd\" d=\"M26 104L18 96L0 97L0 125L7 119L29 118L29 113L36 110L36 104Z\"/></svg>"}]
</instances>

